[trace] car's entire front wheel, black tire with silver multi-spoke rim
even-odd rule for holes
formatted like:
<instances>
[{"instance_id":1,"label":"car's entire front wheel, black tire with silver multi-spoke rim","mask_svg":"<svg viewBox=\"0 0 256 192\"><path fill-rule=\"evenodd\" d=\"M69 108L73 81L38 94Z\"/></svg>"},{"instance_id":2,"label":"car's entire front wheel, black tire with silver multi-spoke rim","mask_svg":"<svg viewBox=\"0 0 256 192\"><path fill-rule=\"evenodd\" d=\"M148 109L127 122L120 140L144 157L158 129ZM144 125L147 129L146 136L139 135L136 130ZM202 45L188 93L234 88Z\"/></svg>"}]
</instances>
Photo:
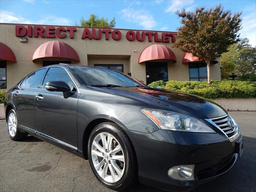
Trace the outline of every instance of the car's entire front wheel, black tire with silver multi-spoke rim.
<instances>
[{"instance_id":1,"label":"car's entire front wheel, black tire with silver multi-spoke rim","mask_svg":"<svg viewBox=\"0 0 256 192\"><path fill-rule=\"evenodd\" d=\"M111 144L104 147L102 138L106 139L106 145L108 141ZM88 142L88 159L96 178L112 190L122 191L131 187L138 176L132 143L124 130L115 123L101 123L92 130Z\"/></svg>"}]
</instances>

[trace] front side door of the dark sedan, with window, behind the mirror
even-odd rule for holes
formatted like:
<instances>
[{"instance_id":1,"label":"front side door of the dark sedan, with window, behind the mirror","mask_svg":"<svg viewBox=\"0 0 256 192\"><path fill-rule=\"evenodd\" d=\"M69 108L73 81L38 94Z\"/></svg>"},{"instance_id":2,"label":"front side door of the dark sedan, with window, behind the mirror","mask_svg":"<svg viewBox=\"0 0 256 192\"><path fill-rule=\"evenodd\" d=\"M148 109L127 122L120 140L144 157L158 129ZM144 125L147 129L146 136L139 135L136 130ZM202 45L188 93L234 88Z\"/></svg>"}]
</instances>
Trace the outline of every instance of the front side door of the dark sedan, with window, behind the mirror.
<instances>
[{"instance_id":1,"label":"front side door of the dark sedan, with window, behind the mirror","mask_svg":"<svg viewBox=\"0 0 256 192\"><path fill-rule=\"evenodd\" d=\"M48 81L63 81L70 86L70 96L45 89ZM46 73L42 88L35 99L35 119L38 132L50 136L56 142L77 150L77 103L80 93L68 72L61 67L51 67Z\"/></svg>"}]
</instances>

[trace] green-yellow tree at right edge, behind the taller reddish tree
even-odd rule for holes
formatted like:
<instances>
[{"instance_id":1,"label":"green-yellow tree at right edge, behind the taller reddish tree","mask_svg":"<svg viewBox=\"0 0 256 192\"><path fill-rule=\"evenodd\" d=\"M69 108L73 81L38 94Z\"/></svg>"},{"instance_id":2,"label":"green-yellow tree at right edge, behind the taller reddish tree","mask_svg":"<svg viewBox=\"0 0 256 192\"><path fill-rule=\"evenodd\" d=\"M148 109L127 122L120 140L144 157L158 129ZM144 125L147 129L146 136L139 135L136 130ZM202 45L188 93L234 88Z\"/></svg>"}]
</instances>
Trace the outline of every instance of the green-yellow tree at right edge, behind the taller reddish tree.
<instances>
[{"instance_id":1,"label":"green-yellow tree at right edge, behind the taller reddish tree","mask_svg":"<svg viewBox=\"0 0 256 192\"><path fill-rule=\"evenodd\" d=\"M220 57L222 64L221 78L227 79L234 72L238 75L252 73L256 64L256 48L249 44L247 38L242 39L236 44L232 44Z\"/></svg>"}]
</instances>

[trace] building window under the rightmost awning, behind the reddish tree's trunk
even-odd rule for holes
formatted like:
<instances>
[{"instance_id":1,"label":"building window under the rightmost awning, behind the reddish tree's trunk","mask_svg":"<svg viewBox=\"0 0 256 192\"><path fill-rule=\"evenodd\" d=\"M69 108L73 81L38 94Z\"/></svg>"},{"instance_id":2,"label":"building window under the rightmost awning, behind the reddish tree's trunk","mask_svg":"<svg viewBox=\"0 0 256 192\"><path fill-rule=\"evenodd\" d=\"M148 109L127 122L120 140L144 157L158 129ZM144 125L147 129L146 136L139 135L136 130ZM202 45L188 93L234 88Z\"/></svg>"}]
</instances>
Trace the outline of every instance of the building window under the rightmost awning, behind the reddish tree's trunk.
<instances>
[{"instance_id":1,"label":"building window under the rightmost awning, behind the reddish tree's trunk","mask_svg":"<svg viewBox=\"0 0 256 192\"><path fill-rule=\"evenodd\" d=\"M206 63L189 63L190 81L207 81Z\"/></svg>"}]
</instances>

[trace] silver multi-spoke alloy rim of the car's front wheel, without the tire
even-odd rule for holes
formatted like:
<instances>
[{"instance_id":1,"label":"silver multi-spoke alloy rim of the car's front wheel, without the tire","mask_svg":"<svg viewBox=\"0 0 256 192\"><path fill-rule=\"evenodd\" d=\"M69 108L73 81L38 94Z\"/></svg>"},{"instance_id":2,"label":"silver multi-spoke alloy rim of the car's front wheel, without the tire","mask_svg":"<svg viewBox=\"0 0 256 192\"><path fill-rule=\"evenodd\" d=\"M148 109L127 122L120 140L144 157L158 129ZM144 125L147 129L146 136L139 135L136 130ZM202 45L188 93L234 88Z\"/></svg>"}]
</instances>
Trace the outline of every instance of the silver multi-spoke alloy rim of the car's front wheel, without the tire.
<instances>
[{"instance_id":1,"label":"silver multi-spoke alloy rim of the car's front wheel, without the tire","mask_svg":"<svg viewBox=\"0 0 256 192\"><path fill-rule=\"evenodd\" d=\"M110 133L101 132L95 136L91 156L98 175L106 182L118 182L125 168L125 157L122 146Z\"/></svg>"}]
</instances>

